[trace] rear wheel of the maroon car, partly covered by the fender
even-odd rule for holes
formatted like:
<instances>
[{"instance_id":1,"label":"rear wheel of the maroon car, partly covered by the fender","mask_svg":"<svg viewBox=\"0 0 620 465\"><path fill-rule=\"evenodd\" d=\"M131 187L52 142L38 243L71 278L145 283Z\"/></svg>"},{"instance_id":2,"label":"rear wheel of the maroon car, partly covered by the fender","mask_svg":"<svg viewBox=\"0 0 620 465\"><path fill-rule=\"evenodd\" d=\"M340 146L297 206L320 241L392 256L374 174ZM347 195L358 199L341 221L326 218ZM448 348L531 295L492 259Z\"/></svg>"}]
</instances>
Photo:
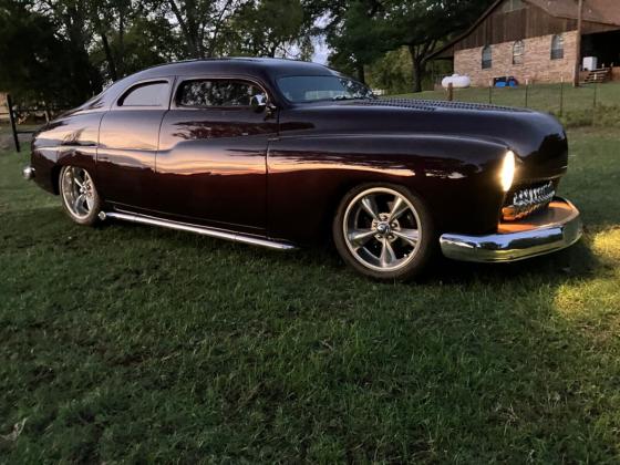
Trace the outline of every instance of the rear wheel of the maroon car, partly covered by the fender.
<instances>
[{"instance_id":1,"label":"rear wheel of the maroon car, partly covered by the fender","mask_svg":"<svg viewBox=\"0 0 620 465\"><path fill-rule=\"evenodd\" d=\"M64 166L59 187L69 217L80 225L94 225L101 211L101 199L90 173L78 166Z\"/></svg>"}]
</instances>

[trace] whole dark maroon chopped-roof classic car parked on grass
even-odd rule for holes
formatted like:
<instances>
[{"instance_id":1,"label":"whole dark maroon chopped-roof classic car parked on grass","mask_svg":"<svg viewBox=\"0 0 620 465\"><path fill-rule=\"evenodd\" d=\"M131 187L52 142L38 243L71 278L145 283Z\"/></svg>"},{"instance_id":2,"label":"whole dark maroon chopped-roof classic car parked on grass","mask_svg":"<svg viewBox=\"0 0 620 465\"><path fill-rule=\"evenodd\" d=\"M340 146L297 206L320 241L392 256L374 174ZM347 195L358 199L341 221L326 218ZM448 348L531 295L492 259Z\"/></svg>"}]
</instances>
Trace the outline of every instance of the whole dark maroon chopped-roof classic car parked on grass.
<instances>
[{"instance_id":1,"label":"whole dark maroon chopped-roof classic car parked on grass","mask_svg":"<svg viewBox=\"0 0 620 465\"><path fill-rule=\"evenodd\" d=\"M570 246L555 196L566 134L509 107L378 100L326 66L225 59L152 68L43 127L24 176L69 216L290 249L410 278L435 249L510 261Z\"/></svg>"}]
</instances>

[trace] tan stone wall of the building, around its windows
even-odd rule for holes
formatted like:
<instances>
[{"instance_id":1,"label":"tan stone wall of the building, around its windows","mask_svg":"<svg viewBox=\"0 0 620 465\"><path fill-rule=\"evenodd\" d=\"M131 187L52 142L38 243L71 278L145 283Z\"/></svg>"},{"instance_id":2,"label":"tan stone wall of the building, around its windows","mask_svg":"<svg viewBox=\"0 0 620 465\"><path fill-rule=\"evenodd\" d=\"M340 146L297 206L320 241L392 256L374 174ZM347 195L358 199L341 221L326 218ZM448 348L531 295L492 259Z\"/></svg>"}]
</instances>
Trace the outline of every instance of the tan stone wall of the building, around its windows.
<instances>
[{"instance_id":1,"label":"tan stone wall of the building, around its windows","mask_svg":"<svg viewBox=\"0 0 620 465\"><path fill-rule=\"evenodd\" d=\"M482 69L482 46L461 50L454 55L454 72L468 75L475 86L487 86L494 78L515 76L519 82L560 82L572 79L577 56L577 31L565 37L564 59L551 60L554 34L525 39L524 63L513 64L514 41L497 43L493 48L493 68Z\"/></svg>"}]
</instances>

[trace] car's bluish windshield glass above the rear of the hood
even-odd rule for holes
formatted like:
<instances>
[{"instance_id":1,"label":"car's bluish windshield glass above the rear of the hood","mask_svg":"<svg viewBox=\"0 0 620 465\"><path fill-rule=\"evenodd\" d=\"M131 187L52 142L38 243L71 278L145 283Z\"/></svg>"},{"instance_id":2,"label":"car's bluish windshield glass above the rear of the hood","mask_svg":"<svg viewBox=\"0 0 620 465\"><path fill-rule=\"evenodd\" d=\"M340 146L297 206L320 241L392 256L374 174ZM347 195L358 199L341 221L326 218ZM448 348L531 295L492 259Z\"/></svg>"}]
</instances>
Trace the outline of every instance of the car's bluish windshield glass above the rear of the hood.
<instances>
[{"instance_id":1,"label":"car's bluish windshield glass above the rear of the hood","mask_svg":"<svg viewBox=\"0 0 620 465\"><path fill-rule=\"evenodd\" d=\"M374 99L365 85L342 76L287 76L278 80L278 87L293 103L320 100Z\"/></svg>"}]
</instances>

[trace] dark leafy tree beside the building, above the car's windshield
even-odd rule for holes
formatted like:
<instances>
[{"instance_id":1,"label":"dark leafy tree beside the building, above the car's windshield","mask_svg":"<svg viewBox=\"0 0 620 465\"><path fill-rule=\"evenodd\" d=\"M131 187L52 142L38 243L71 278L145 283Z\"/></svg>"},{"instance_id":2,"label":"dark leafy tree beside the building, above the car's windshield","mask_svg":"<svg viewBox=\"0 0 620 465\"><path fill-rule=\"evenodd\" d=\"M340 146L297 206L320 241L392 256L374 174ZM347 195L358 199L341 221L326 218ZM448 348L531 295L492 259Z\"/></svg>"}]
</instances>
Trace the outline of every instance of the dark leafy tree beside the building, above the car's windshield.
<instances>
[{"instance_id":1,"label":"dark leafy tree beside the building, above the car's windshield","mask_svg":"<svg viewBox=\"0 0 620 465\"><path fill-rule=\"evenodd\" d=\"M404 79L414 92L422 90L430 55L462 32L493 0L339 0L327 8L324 28L332 54L330 63L355 72L363 80L366 69L381 76L382 87L402 91ZM402 48L409 52L404 58ZM401 60L399 63L394 60ZM404 71L403 64L410 64ZM413 82L413 85L411 83Z\"/></svg>"}]
</instances>

